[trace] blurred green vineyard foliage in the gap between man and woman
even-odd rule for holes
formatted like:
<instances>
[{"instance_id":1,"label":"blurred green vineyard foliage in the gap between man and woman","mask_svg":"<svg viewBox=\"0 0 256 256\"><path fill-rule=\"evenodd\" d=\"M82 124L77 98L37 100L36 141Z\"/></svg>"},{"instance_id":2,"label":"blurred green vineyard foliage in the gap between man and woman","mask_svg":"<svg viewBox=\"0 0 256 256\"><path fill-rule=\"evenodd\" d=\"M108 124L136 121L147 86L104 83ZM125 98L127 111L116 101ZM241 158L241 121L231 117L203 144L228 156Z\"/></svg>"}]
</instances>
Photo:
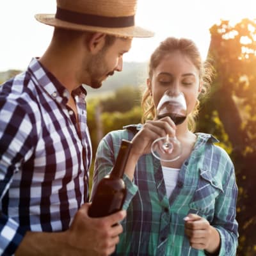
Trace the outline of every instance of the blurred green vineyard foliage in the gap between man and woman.
<instances>
[{"instance_id":1,"label":"blurred green vineyard foliage in the gap between man and woman","mask_svg":"<svg viewBox=\"0 0 256 256\"><path fill-rule=\"evenodd\" d=\"M124 125L141 120L140 90L124 86L109 97L93 97L87 102L87 121L92 138L93 156L100 139Z\"/></svg>"}]
</instances>

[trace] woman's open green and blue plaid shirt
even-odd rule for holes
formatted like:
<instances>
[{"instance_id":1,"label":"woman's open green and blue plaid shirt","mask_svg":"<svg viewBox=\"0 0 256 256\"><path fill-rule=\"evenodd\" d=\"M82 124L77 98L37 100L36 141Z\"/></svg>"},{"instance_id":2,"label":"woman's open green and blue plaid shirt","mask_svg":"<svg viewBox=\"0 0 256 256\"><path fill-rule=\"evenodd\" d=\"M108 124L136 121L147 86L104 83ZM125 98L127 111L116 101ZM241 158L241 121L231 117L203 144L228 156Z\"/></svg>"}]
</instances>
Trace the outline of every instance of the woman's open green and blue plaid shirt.
<instances>
[{"instance_id":1,"label":"woman's open green and blue plaid shirt","mask_svg":"<svg viewBox=\"0 0 256 256\"><path fill-rule=\"evenodd\" d=\"M113 131L100 141L95 159L93 190L111 172L122 139L132 140L141 125ZM159 160L152 154L140 157L131 182L124 176L127 198L122 222L124 232L115 255L205 255L189 246L183 218L196 213L217 228L221 237L219 255L236 255L237 186L234 166L227 152L212 143L210 134L198 133L191 155L180 168L177 186L166 196Z\"/></svg>"}]
</instances>

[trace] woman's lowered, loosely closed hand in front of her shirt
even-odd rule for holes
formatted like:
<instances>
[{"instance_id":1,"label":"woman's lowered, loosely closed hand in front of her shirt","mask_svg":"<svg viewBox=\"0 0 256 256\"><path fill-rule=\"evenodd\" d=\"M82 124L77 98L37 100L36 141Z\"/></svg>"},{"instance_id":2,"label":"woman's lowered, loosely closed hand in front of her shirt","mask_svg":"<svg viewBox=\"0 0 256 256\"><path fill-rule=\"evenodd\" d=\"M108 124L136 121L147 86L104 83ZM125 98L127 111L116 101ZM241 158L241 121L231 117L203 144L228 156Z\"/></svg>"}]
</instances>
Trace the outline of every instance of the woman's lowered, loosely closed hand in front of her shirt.
<instances>
[{"instance_id":1,"label":"woman's lowered, loosely closed hand in front of her shirt","mask_svg":"<svg viewBox=\"0 0 256 256\"><path fill-rule=\"evenodd\" d=\"M220 234L209 221L196 214L188 214L185 220L185 234L191 247L217 253L220 250Z\"/></svg>"}]
</instances>

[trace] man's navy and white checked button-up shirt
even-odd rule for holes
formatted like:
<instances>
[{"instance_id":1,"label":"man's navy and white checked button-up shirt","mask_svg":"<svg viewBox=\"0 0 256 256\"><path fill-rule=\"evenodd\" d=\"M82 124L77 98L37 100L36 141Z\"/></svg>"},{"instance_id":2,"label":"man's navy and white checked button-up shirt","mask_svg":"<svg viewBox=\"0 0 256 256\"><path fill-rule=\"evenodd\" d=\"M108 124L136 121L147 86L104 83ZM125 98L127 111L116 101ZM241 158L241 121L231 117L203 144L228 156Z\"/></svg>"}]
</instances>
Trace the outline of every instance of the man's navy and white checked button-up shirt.
<instances>
[{"instance_id":1,"label":"man's navy and white checked button-up shirt","mask_svg":"<svg viewBox=\"0 0 256 256\"><path fill-rule=\"evenodd\" d=\"M72 96L78 123L70 94L36 59L0 86L0 254L12 255L27 230L67 230L88 201L86 91Z\"/></svg>"}]
</instances>

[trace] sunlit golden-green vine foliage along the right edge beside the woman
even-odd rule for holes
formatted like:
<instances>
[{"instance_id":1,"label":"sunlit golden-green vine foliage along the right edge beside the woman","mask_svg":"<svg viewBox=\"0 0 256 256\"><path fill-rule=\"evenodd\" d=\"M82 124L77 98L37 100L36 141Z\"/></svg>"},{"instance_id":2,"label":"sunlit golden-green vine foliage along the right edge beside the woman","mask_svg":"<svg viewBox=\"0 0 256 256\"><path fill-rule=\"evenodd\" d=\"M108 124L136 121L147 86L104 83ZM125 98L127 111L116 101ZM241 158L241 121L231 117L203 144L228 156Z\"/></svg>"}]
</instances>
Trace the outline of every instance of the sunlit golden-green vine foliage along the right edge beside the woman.
<instances>
[{"instance_id":1,"label":"sunlit golden-green vine foliage along the right edge beside the woman","mask_svg":"<svg viewBox=\"0 0 256 256\"><path fill-rule=\"evenodd\" d=\"M239 187L237 255L255 255L256 22L244 19L232 26L223 20L210 31L209 56L217 76L198 129L214 134L232 157Z\"/></svg>"}]
</instances>

